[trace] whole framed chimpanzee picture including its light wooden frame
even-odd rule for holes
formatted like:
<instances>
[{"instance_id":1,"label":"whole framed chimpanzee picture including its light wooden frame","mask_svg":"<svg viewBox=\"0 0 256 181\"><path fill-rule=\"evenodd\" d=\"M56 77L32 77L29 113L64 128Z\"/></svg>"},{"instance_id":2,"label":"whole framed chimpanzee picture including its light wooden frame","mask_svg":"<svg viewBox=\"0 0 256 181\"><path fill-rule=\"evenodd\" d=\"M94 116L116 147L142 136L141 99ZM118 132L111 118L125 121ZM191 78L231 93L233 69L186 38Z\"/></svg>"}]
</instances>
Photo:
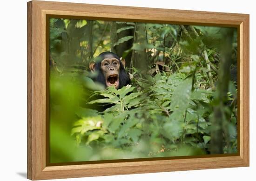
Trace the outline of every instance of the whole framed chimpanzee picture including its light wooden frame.
<instances>
[{"instance_id":1,"label":"whole framed chimpanzee picture including its light wooden frame","mask_svg":"<svg viewBox=\"0 0 256 181\"><path fill-rule=\"evenodd\" d=\"M29 179L249 166L249 15L27 7Z\"/></svg>"}]
</instances>

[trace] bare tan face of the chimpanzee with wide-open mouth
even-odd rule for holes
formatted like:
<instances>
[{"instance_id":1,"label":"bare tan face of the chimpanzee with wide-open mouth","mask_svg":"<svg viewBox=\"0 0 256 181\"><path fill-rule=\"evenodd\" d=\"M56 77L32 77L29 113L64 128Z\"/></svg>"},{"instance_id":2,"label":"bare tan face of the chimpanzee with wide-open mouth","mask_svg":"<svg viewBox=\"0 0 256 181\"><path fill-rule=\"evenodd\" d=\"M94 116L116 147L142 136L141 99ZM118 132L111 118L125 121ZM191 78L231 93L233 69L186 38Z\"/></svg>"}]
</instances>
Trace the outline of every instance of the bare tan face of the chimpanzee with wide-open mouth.
<instances>
[{"instance_id":1,"label":"bare tan face of the chimpanzee with wide-open mouth","mask_svg":"<svg viewBox=\"0 0 256 181\"><path fill-rule=\"evenodd\" d=\"M101 61L101 70L106 79L106 85L119 87L119 69L120 63L119 60L115 57L105 58Z\"/></svg>"}]
</instances>

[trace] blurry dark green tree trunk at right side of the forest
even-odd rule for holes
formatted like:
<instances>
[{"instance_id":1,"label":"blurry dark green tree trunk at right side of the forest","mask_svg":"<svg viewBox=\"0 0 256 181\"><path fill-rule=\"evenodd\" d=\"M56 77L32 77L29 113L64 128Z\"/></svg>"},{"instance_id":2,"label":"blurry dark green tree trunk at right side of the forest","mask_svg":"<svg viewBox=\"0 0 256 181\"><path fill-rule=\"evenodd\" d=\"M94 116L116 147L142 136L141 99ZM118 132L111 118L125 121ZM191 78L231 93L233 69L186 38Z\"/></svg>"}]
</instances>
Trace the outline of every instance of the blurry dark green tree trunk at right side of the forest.
<instances>
[{"instance_id":1,"label":"blurry dark green tree trunk at right side of the forest","mask_svg":"<svg viewBox=\"0 0 256 181\"><path fill-rule=\"evenodd\" d=\"M225 105L228 101L229 91L229 80L230 80L230 66L232 62L232 38L233 29L224 29L225 36L222 38L222 50L221 60L219 66L219 75L217 82L217 95L214 100L215 107L213 118L211 119L211 141L210 141L210 152L211 154L222 154L223 153L223 134L225 131L225 125L227 123L227 114L225 112ZM226 135L226 141L229 147L229 136Z\"/></svg>"}]
</instances>

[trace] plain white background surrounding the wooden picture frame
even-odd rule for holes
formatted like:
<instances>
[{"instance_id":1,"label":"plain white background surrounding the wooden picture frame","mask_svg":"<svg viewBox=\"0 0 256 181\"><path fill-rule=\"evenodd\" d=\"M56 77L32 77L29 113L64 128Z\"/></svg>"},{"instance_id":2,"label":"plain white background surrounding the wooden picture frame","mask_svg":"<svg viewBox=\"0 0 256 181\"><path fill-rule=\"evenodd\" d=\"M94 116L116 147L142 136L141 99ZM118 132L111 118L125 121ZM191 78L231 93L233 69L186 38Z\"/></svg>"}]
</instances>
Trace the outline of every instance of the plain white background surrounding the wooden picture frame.
<instances>
[{"instance_id":1,"label":"plain white background surrounding the wooden picture frame","mask_svg":"<svg viewBox=\"0 0 256 181\"><path fill-rule=\"evenodd\" d=\"M60 1L60 0L55 0ZM61 0L91 4L140 6L250 14L250 167L153 174L115 175L63 181L241 181L256 171L256 11L253 0ZM27 0L0 1L0 156L2 181L26 180L27 173ZM254 22L254 23L253 23ZM60 180L60 181L62 181Z\"/></svg>"}]
</instances>

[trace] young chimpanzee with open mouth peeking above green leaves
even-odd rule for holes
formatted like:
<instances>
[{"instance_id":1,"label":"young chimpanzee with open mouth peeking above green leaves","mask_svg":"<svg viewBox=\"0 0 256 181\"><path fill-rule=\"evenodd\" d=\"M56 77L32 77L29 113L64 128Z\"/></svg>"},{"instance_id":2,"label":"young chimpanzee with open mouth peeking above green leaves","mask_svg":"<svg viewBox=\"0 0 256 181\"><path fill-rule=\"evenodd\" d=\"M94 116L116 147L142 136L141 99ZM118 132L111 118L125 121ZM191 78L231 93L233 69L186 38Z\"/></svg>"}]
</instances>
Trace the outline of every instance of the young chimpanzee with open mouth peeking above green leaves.
<instances>
[{"instance_id":1,"label":"young chimpanzee with open mouth peeking above green leaves","mask_svg":"<svg viewBox=\"0 0 256 181\"><path fill-rule=\"evenodd\" d=\"M91 62L89 67L92 72L96 71L98 75L94 78L105 87L115 86L119 89L130 84L131 80L124 69L125 60L112 52L105 51L97 56L95 63Z\"/></svg>"}]
</instances>

